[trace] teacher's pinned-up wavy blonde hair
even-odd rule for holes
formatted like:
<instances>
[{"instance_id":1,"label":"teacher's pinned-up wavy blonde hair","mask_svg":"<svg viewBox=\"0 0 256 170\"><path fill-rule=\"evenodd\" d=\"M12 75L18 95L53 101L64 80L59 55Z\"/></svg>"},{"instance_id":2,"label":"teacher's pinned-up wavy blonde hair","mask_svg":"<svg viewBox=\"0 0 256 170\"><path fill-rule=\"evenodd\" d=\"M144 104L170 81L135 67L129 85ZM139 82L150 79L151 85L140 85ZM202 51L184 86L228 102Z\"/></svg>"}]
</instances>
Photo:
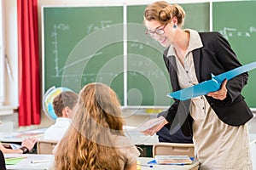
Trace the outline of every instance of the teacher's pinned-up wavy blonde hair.
<instances>
[{"instance_id":1,"label":"teacher's pinned-up wavy blonde hair","mask_svg":"<svg viewBox=\"0 0 256 170\"><path fill-rule=\"evenodd\" d=\"M178 4L169 4L165 1L152 3L145 8L144 20L157 20L161 24L169 23L173 17L177 17L177 25L183 26L185 11Z\"/></svg>"}]
</instances>

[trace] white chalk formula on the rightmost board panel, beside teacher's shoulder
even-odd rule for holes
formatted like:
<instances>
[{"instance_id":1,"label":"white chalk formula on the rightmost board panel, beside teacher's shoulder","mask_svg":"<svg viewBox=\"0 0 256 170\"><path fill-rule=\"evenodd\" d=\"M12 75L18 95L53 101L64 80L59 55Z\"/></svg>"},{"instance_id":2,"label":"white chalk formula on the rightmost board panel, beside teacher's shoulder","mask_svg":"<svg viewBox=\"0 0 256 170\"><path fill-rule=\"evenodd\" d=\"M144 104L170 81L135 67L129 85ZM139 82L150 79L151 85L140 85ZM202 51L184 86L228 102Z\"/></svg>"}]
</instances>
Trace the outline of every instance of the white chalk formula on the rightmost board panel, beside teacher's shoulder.
<instances>
[{"instance_id":1,"label":"white chalk formula on the rightmost board panel, beside teacher's shoulder","mask_svg":"<svg viewBox=\"0 0 256 170\"><path fill-rule=\"evenodd\" d=\"M220 30L219 32L229 40L229 37L252 37L252 34L256 32L256 28L250 26L247 31L240 31L236 28L224 27L223 30Z\"/></svg>"}]
</instances>

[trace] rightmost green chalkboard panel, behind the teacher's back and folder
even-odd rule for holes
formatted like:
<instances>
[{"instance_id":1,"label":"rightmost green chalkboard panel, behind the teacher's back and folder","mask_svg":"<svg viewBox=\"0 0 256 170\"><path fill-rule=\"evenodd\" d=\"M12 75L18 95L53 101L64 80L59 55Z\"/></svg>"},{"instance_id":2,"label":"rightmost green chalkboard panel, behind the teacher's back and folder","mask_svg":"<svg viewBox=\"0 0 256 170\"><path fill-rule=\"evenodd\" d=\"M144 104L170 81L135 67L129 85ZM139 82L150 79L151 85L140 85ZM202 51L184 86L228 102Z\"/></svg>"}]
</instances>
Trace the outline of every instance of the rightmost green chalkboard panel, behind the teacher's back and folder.
<instances>
[{"instance_id":1,"label":"rightmost green chalkboard panel, behind the teacher's back and folder","mask_svg":"<svg viewBox=\"0 0 256 170\"><path fill-rule=\"evenodd\" d=\"M228 39L242 64L256 61L256 2L212 3L213 31L219 31ZM256 70L249 71L249 80L242 90L247 104L256 107Z\"/></svg>"}]
</instances>

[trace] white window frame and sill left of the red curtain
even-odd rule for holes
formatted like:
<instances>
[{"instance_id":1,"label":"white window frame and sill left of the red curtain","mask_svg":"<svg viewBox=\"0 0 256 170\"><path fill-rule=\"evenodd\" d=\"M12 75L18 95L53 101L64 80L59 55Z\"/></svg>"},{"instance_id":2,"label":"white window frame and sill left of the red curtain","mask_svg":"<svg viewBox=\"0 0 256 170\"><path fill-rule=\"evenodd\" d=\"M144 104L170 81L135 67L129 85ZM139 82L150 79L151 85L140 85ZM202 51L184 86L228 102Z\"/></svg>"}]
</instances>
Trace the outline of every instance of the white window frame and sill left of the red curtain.
<instances>
[{"instance_id":1,"label":"white window frame and sill left of the red curtain","mask_svg":"<svg viewBox=\"0 0 256 170\"><path fill-rule=\"evenodd\" d=\"M3 41L4 49L3 55L7 55L9 65L11 68L11 76L9 77L6 66L3 71L3 96L4 100L0 105L0 131L9 132L18 127L18 114L16 109L18 107L18 50L17 50L17 8L16 0L2 0L3 3ZM2 84L1 84L2 85ZM1 88L3 88L1 87Z\"/></svg>"}]
</instances>

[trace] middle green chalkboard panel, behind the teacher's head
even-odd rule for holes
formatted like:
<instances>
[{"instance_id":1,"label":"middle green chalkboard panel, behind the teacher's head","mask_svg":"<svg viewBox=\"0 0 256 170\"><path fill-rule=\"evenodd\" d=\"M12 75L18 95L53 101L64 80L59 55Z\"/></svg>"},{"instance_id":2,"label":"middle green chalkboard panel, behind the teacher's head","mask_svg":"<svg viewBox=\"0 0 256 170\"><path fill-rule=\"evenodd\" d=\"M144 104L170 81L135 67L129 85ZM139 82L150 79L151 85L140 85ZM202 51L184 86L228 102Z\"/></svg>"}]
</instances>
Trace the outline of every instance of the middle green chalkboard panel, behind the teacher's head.
<instances>
[{"instance_id":1,"label":"middle green chalkboard panel, behind the teacher's head","mask_svg":"<svg viewBox=\"0 0 256 170\"><path fill-rule=\"evenodd\" d=\"M180 4L186 12L184 28L209 31L209 3ZM127 7L127 96L128 105L170 105L172 92L159 42L144 34L143 11L146 5Z\"/></svg>"}]
</instances>

